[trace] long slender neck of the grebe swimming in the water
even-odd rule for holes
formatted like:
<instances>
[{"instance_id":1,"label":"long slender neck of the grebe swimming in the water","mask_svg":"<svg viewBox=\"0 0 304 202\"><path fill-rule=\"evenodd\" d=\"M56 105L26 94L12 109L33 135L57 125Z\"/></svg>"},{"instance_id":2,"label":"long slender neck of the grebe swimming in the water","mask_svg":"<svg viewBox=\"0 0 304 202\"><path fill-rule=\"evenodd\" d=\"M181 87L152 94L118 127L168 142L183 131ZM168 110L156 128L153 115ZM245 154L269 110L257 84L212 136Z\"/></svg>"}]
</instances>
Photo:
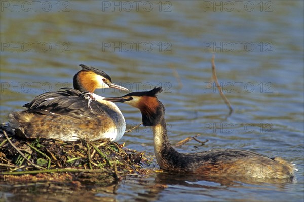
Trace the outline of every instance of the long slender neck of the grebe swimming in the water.
<instances>
[{"instance_id":1,"label":"long slender neck of the grebe swimming in the water","mask_svg":"<svg viewBox=\"0 0 304 202\"><path fill-rule=\"evenodd\" d=\"M154 136L154 153L157 163L165 170L178 170L182 168L183 154L177 152L170 144L167 136L165 119L152 126Z\"/></svg>"}]
</instances>

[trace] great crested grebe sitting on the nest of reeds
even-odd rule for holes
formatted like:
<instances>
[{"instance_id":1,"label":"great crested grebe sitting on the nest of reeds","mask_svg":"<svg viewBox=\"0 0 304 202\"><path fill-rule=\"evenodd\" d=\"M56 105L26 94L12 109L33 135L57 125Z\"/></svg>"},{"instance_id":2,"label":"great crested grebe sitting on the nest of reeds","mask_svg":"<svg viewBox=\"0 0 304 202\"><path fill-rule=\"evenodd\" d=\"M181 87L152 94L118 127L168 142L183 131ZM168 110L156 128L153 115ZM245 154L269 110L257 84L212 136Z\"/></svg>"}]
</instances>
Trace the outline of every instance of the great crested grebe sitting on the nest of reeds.
<instances>
[{"instance_id":1,"label":"great crested grebe sitting on the nest of reeds","mask_svg":"<svg viewBox=\"0 0 304 202\"><path fill-rule=\"evenodd\" d=\"M9 115L10 127L26 138L54 138L91 141L110 138L118 141L125 133L126 122L119 108L96 89L128 89L112 83L105 72L81 64L82 70L73 78L72 88L43 93L23 105L27 109ZM90 92L89 94L85 91Z\"/></svg>"}]
</instances>

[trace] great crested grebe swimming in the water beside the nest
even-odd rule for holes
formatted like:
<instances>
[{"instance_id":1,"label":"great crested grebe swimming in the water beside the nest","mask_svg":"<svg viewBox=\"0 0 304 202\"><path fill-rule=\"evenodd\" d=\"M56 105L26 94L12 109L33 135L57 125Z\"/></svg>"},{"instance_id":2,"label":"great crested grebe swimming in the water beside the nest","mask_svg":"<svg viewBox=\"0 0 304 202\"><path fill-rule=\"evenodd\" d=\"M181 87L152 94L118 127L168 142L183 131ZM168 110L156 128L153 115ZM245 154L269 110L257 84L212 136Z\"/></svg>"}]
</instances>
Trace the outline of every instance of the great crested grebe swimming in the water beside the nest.
<instances>
[{"instance_id":1,"label":"great crested grebe swimming in the water beside the nest","mask_svg":"<svg viewBox=\"0 0 304 202\"><path fill-rule=\"evenodd\" d=\"M269 158L241 149L212 149L199 153L179 153L170 144L165 122L165 107L156 97L161 87L151 91L132 92L122 97L105 98L136 107L144 126L151 126L154 152L161 169L204 174L209 176L235 176L252 178L292 179L294 165L282 158Z\"/></svg>"}]
</instances>

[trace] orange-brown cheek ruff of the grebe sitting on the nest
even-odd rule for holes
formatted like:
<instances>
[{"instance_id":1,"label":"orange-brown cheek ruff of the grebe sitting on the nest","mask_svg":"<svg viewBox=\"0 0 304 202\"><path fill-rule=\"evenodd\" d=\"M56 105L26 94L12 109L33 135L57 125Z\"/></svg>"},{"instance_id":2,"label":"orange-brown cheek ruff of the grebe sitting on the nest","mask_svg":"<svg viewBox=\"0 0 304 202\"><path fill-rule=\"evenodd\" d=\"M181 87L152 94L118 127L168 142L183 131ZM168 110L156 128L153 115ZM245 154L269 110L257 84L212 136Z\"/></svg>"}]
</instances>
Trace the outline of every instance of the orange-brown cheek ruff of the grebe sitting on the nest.
<instances>
[{"instance_id":1,"label":"orange-brown cheek ruff of the grebe sitting on the nest","mask_svg":"<svg viewBox=\"0 0 304 202\"><path fill-rule=\"evenodd\" d=\"M86 91L90 91L94 93L94 91L98 87L98 80L96 80L97 74L93 71L81 71L78 73L78 78L80 81L80 85L86 89Z\"/></svg>"}]
</instances>

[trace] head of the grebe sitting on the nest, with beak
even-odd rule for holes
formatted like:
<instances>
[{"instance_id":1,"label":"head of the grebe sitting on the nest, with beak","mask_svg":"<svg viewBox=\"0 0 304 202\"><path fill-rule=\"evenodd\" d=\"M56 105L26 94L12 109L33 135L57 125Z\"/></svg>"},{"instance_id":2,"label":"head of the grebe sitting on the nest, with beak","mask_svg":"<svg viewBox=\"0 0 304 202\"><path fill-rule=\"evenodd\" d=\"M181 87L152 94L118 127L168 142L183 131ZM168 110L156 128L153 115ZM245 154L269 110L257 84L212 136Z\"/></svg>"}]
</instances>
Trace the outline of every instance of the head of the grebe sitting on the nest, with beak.
<instances>
[{"instance_id":1,"label":"head of the grebe sitting on the nest, with beak","mask_svg":"<svg viewBox=\"0 0 304 202\"><path fill-rule=\"evenodd\" d=\"M115 88L122 91L128 91L128 89L112 83L109 75L104 71L100 71L94 67L89 67L84 64L80 64L82 70L77 72L73 78L74 89L81 92L90 91L93 93L96 89Z\"/></svg>"}]
</instances>

